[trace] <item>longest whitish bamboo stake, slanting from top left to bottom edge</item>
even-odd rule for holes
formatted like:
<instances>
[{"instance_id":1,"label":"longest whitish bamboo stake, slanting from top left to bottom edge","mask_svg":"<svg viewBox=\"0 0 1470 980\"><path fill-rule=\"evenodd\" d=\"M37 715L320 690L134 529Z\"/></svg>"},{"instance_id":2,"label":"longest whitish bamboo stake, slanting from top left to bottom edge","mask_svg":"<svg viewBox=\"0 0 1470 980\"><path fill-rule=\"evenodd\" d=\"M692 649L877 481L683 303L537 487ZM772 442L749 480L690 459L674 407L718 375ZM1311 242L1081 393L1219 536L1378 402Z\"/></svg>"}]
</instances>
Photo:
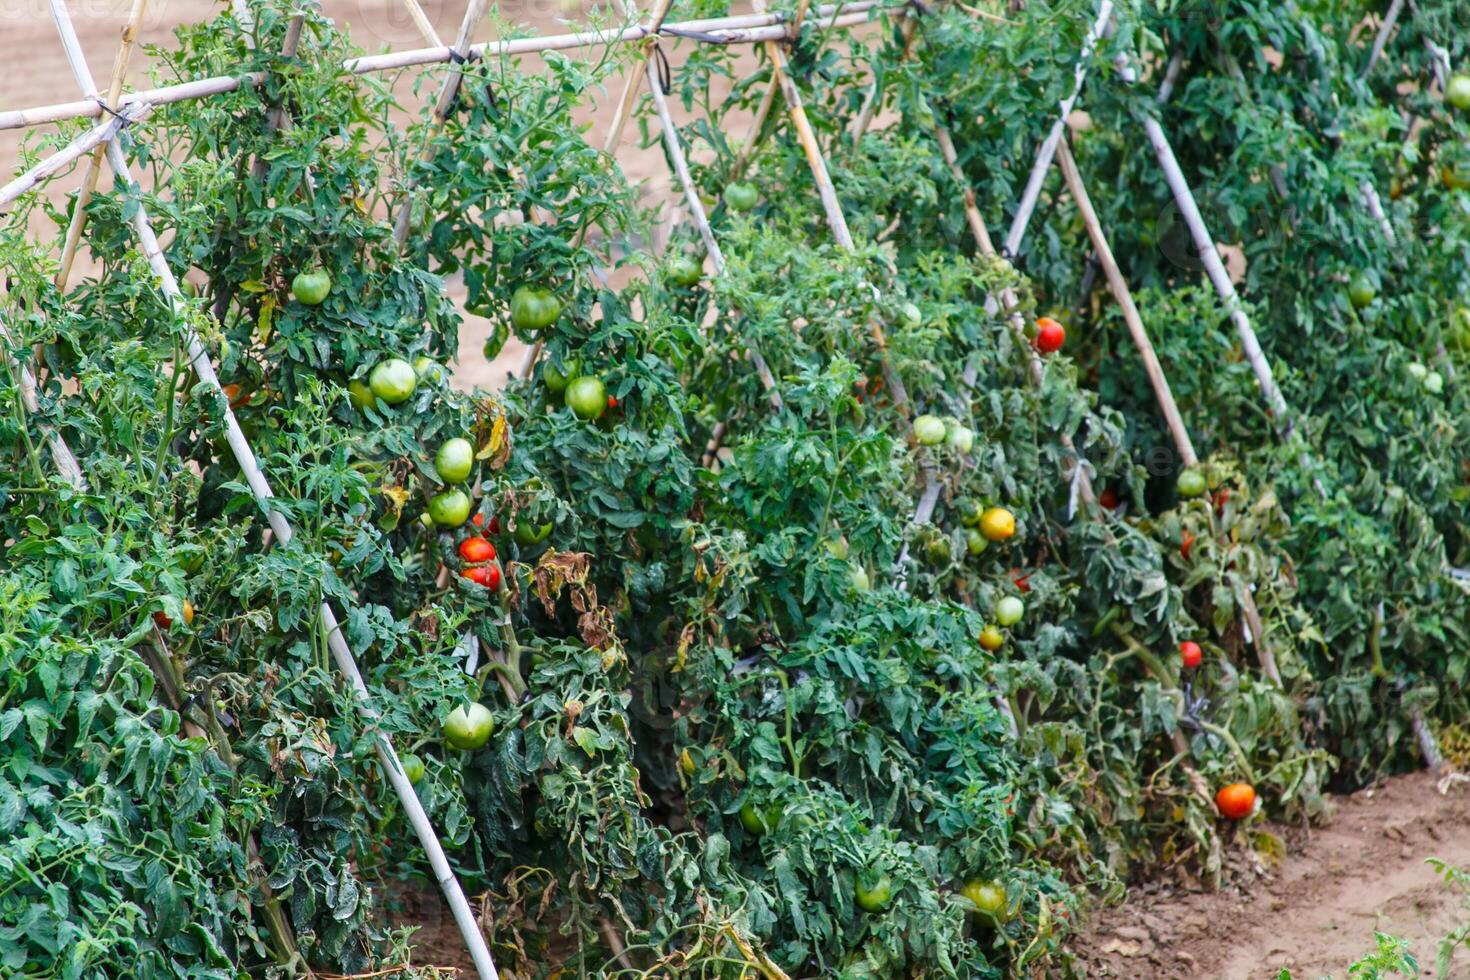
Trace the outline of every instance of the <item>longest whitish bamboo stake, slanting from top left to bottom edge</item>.
<instances>
[{"instance_id":1,"label":"longest whitish bamboo stake, slanting from top left to bottom edge","mask_svg":"<svg viewBox=\"0 0 1470 980\"><path fill-rule=\"evenodd\" d=\"M56 19L57 32L62 37L62 46L66 48L66 59L72 68L72 75L76 78L78 87L82 91L96 88L91 79L91 72L87 68L85 57L82 56L81 43L76 40L76 31L72 26L65 0L50 0L50 6L51 15ZM148 260L153 273L157 276L159 287L168 297L169 307L173 310L178 322L184 326L184 339L188 345L190 363L201 382L213 388L219 388L219 378L215 375L215 366L210 361L209 353L204 350L198 334L190 325L187 316L187 301L179 291L178 281L173 278L173 270L169 267L169 263L163 256L163 250L159 245L159 239L153 232L147 209L143 207L143 191L132 181L128 160L123 157L118 141L112 140L106 144L106 147L107 163L112 166L118 178L129 185L131 192L135 195L137 207L132 210L131 223L138 238L138 245L144 257ZM266 522L270 525L272 532L281 544L290 542L293 536L291 525L287 522L284 513L270 505L270 500L275 494L270 489L270 483L266 480L265 473L260 472L260 466L250 448L250 442L245 439L245 435L240 429L240 423L235 419L235 413L228 404L225 406L225 438L229 444L231 453L235 455L235 461L240 464L241 473L245 476L245 483L250 486L251 495L265 511ZM319 607L319 616L332 660L337 663L338 671L348 680L357 699L359 713L363 716L363 720L369 727L376 727L378 711L372 705L372 693L368 691L368 685L363 683L362 673L357 670L357 661L353 657L351 649L347 646L347 641L343 638L335 613L332 613L331 605L322 602ZM454 912L454 918L459 923L460 933L465 936L466 946L475 961L481 980L498 980L494 961L490 956L490 949L485 946L485 937L479 932L475 914L470 911L469 902L465 901L465 892L460 889L459 879L454 876L454 871L448 864L448 858L444 855L444 848L440 845L438 836L434 832L434 826L429 823L428 815L423 813L423 807L419 804L417 795L413 792L413 785L403 771L398 755L394 752L392 742L388 739L388 735L381 730L378 732L375 742L378 760L382 764L384 774L397 792L404 813L409 817L409 823L413 826L419 842L429 858L429 865L434 868L440 887L444 890L444 898L450 904L450 909Z\"/></svg>"}]
</instances>

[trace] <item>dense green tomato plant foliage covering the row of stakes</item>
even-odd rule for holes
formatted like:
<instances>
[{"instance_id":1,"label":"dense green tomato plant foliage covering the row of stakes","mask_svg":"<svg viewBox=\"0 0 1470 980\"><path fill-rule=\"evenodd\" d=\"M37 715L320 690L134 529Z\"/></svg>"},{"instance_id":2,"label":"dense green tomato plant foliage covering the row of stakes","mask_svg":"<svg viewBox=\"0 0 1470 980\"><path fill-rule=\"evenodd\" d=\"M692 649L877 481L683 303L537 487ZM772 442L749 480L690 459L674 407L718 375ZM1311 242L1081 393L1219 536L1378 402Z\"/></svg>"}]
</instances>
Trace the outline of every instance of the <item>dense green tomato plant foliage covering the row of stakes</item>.
<instances>
[{"instance_id":1,"label":"dense green tomato plant foliage covering the row of stakes","mask_svg":"<svg viewBox=\"0 0 1470 980\"><path fill-rule=\"evenodd\" d=\"M229 16L184 31L163 72L266 78L162 107L128 147L226 388L182 361L185 325L135 251L128 191L90 204L98 273L66 295L54 256L24 241L29 212L0 235L0 317L43 379L38 413L13 367L0 389L0 962L225 977L404 961L382 886L422 877L422 854L331 673L322 599L347 613L378 724L426 764L417 792L488 895L497 961L529 976L1063 968L1076 886L1116 892L1158 862L1226 873L1213 788L1247 779L1270 813L1311 815L1329 749L1354 774L1402 764L1416 705L1463 717L1463 655L1446 649L1466 604L1445 561L1466 563L1455 453L1470 413L1463 388L1426 400L1395 364L1445 339L1466 367L1441 316L1460 288L1463 195L1427 187L1466 123L1389 75L1427 75L1416 31L1467 34L1416 15L1360 82L1347 4L1266 6L1126 10L1091 65L1078 141L1210 453L1198 500L1176 494L1111 304L1078 298L1086 239L1057 178L1016 260L1028 279L978 254L967 188L935 143L942 123L1001 228L1070 91L1085 3L947 7L911 46L814 29L792 46L853 251L820 222L779 97L748 140L729 137L769 62L691 51L672 96L728 262L694 285L672 256L701 257L698 241L681 229L669 254L637 251L654 216L578 123L639 51L547 54L538 73L470 65L442 128L401 126L381 81L341 72L347 43L315 15L290 63L273 51L293 12L273 3L253 7L248 38ZM1197 272L1151 248L1169 234L1136 135L1151 93L1110 76L1119 51L1185 56L1164 119L1245 242L1299 444L1273 442ZM854 143L873 85L878 125ZM1392 204L1426 223L1401 263L1372 264L1376 228L1349 203L1398 159L1372 135L1401 125L1394 101L1433 118L1402 154L1414 190ZM272 135L275 104L293 125ZM1292 141L1261 138L1272 126ZM1273 165L1288 207L1269 198ZM753 209L726 203L738 179ZM307 306L291 281L316 267L332 287ZM1352 311L1323 289L1347 267L1401 285ZM457 350L448 278L491 320L487 354L512 331L544 342L534 376L466 395L429 364L400 404L365 394L388 357ZM514 323L522 288L557 297L554 322ZM1066 311L1067 347L1039 383L1028 339L988 311L1003 289L1026 322ZM910 445L888 372L973 444ZM579 403L595 420L566 406L581 375L604 386ZM298 529L288 545L223 445L226 404ZM49 432L85 488L54 473ZM478 523L431 527L435 451L454 436L476 450ZM1063 436L1122 510L1075 513ZM913 526L931 485L933 516ZM992 505L1017 517L1010 541L975 526ZM498 591L462 574L479 535ZM1003 598L1025 611L997 633ZM1204 645L1201 670L1180 671L1183 639ZM1263 644L1283 686L1255 669ZM495 729L457 752L440 724L466 699ZM980 882L1000 884L998 909L961 896Z\"/></svg>"}]
</instances>

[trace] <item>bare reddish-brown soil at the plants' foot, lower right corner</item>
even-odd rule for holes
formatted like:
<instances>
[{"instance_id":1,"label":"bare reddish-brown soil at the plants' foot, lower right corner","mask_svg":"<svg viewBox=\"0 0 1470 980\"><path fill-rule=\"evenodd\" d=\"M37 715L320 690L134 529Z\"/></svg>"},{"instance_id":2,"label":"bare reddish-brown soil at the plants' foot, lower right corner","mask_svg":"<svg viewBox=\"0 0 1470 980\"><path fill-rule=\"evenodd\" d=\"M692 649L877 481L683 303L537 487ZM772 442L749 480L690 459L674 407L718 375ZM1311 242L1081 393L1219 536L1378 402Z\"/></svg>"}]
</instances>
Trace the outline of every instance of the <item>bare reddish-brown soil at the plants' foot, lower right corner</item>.
<instances>
[{"instance_id":1,"label":"bare reddish-brown soil at the plants' foot, lower right corner","mask_svg":"<svg viewBox=\"0 0 1470 980\"><path fill-rule=\"evenodd\" d=\"M1424 858L1470 867L1470 785L1416 773L1338 802L1326 827L1272 827L1286 857L1241 884L1189 892L1154 883L1101 911L1079 943L1089 976L1258 980L1288 967L1297 980L1342 980L1379 930L1410 940L1420 976L1438 977L1439 940L1470 918L1470 907ZM1252 864L1244 848L1229 860ZM1470 951L1439 980L1449 977L1470 977Z\"/></svg>"}]
</instances>

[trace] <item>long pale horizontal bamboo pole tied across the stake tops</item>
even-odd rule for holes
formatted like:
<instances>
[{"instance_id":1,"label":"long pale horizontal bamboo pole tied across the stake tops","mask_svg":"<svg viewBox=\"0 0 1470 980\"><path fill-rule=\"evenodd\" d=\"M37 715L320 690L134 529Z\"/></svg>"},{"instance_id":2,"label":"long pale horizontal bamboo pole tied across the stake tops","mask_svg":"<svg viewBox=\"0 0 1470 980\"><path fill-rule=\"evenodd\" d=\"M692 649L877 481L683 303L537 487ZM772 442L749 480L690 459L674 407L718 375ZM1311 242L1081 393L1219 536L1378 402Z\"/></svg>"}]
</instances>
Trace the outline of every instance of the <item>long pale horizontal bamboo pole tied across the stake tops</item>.
<instances>
[{"instance_id":1,"label":"long pale horizontal bamboo pole tied across the stake tops","mask_svg":"<svg viewBox=\"0 0 1470 980\"><path fill-rule=\"evenodd\" d=\"M857 0L856 3L822 6L817 12L822 16L836 15L836 19L831 24L831 26L842 28L861 24L866 18L857 18L857 15L867 13L879 6L879 0ZM760 41L776 41L786 37L785 26L781 26L782 19L784 15L779 13L757 13L732 18L710 18L704 21L682 21L678 24L669 24L664 29L670 32L694 31L698 34L710 34L719 38L714 43L720 44L756 44ZM514 54L535 54L538 51L562 51L578 47L594 47L598 44L628 44L631 41L641 41L645 37L653 37L653 32L648 28L634 25L616 31L581 31L576 34L554 34L539 38L519 38L514 41L488 41L485 44L476 44L472 51L479 57L504 57ZM353 75L368 75L372 72L387 72L400 68L415 68L419 65L442 65L448 60L451 60L448 47L420 47L404 51L391 51L388 54L353 57L343 62L343 69ZM125 96L121 103L128 106L147 101L154 106L166 106L178 101L188 101L191 98L207 98L210 96L232 93L247 85L259 85L265 79L266 72L216 75L191 82L179 82L178 85L165 85L162 88L132 93ZM101 113L101 106L91 98L56 103L51 106L35 106L31 109L10 109L0 112L0 129L25 129L66 119L96 119Z\"/></svg>"}]
</instances>

